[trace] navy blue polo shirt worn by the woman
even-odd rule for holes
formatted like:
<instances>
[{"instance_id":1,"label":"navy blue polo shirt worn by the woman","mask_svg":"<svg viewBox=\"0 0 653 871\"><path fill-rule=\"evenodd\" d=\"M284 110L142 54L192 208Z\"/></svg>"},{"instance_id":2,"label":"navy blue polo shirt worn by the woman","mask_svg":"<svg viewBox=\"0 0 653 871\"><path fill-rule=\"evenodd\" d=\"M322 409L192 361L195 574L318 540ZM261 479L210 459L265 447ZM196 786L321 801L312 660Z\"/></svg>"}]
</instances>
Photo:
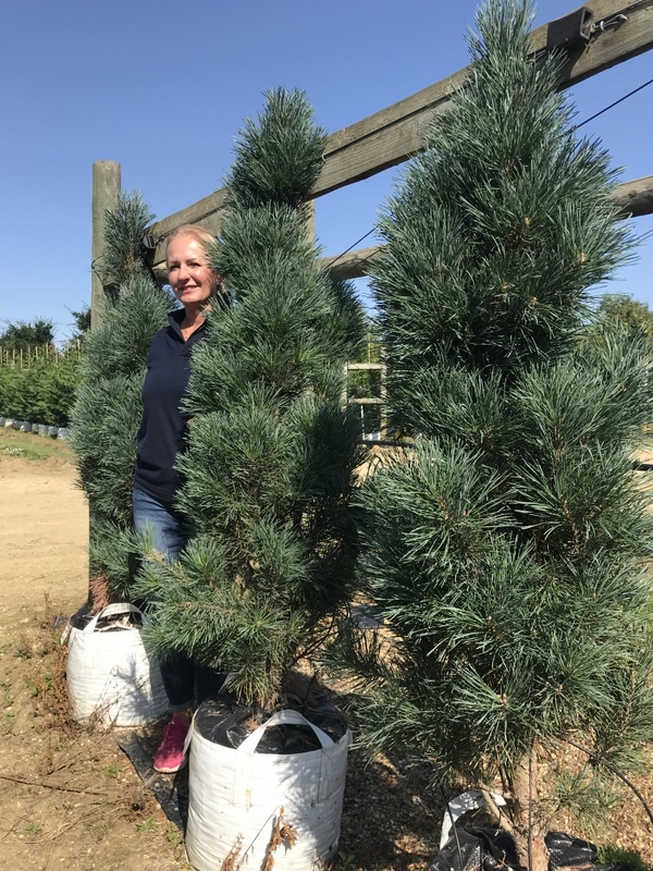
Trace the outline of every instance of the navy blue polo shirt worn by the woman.
<instances>
[{"instance_id":1,"label":"navy blue polo shirt worn by the woman","mask_svg":"<svg viewBox=\"0 0 653 871\"><path fill-rule=\"evenodd\" d=\"M188 432L188 415L180 408L190 378L190 354L206 335L202 323L187 341L182 335L184 309L171 311L168 327L155 334L143 384L143 420L137 437L134 486L171 504L183 483L173 468Z\"/></svg>"}]
</instances>

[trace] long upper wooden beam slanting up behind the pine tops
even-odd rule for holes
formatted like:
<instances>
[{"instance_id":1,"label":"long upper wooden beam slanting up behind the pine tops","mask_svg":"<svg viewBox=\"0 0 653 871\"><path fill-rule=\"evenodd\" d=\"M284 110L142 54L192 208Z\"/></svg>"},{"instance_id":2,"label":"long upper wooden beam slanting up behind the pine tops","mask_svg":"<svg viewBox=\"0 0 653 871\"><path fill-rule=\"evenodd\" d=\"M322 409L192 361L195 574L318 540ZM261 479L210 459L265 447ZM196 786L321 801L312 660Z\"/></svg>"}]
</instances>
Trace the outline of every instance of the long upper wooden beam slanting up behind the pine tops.
<instances>
[{"instance_id":1,"label":"long upper wooden beam slanting up behind the pine tops","mask_svg":"<svg viewBox=\"0 0 653 871\"><path fill-rule=\"evenodd\" d=\"M593 32L586 45L568 49L560 88L570 87L653 47L653 0L589 0L586 8L592 14ZM533 52L551 47L556 22L533 30ZM313 197L374 175L421 150L431 121L438 112L445 111L451 95L461 86L466 75L467 70L454 73L328 136L324 165L313 187ZM163 238L175 226L189 222L201 223L217 233L223 208L224 192L218 191L157 222L151 233ZM160 265L162 260L159 244L153 262Z\"/></svg>"}]
</instances>

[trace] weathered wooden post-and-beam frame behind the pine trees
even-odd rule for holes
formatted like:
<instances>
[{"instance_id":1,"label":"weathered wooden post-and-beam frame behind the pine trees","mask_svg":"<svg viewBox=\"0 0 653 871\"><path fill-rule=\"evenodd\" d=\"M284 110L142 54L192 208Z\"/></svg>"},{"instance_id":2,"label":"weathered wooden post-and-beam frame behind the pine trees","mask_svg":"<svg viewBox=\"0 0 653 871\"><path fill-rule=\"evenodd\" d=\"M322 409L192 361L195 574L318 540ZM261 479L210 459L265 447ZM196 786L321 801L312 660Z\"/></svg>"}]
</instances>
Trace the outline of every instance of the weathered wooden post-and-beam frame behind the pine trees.
<instances>
[{"instance_id":1,"label":"weathered wooden post-and-beam frame behind the pine trees","mask_svg":"<svg viewBox=\"0 0 653 871\"><path fill-rule=\"evenodd\" d=\"M578 30L578 33L576 33ZM566 62L559 87L572 85L653 48L653 0L590 0L569 15L539 27L531 34L534 56L552 49L564 50ZM331 134L326 138L324 164L312 198L368 179L397 165L424 147L426 133L440 112L446 111L451 95L465 81L467 69L394 103L380 112ZM93 263L101 260L104 214L113 208L121 188L120 164L98 161L93 167ZM653 175L619 185L615 199L625 216L653 213ZM217 191L149 229L155 240L150 266L163 270L165 238L184 223L198 223L214 235L224 214L224 192ZM359 278L377 248L325 257L337 278ZM100 277L91 270L91 326L97 326L103 294Z\"/></svg>"}]
</instances>

